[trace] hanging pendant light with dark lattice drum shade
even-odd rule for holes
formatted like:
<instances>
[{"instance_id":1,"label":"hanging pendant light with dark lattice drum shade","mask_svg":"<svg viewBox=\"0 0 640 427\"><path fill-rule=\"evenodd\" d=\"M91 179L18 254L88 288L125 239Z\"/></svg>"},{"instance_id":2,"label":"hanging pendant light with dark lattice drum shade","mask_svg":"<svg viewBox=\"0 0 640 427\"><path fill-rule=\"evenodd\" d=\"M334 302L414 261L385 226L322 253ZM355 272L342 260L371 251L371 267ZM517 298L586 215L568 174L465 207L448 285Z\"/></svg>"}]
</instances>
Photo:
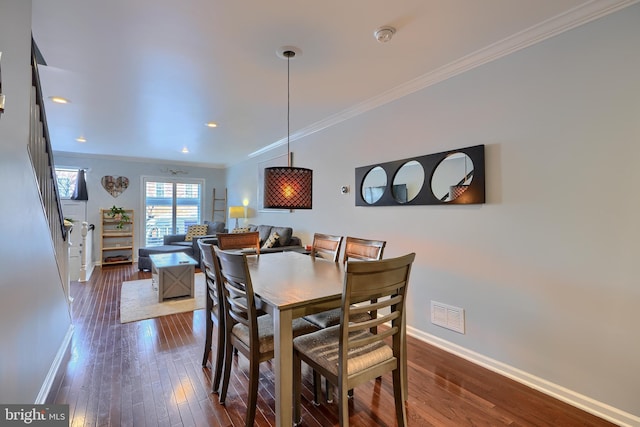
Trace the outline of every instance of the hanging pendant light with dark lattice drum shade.
<instances>
[{"instance_id":1,"label":"hanging pendant light with dark lattice drum shade","mask_svg":"<svg viewBox=\"0 0 640 427\"><path fill-rule=\"evenodd\" d=\"M313 171L291 166L290 139L290 90L289 62L296 55L295 48L285 48L287 58L287 166L264 170L264 207L267 209L311 209Z\"/></svg>"}]
</instances>

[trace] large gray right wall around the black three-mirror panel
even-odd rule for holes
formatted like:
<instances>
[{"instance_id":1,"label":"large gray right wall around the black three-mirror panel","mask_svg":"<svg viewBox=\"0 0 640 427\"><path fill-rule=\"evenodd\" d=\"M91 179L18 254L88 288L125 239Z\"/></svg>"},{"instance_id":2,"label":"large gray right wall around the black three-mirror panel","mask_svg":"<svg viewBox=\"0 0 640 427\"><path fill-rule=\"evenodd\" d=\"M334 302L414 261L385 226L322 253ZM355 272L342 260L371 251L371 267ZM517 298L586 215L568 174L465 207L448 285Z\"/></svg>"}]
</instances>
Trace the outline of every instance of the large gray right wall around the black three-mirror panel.
<instances>
[{"instance_id":1,"label":"large gray right wall around the black three-mirror panel","mask_svg":"<svg viewBox=\"0 0 640 427\"><path fill-rule=\"evenodd\" d=\"M415 251L411 333L640 424L638 23L631 6L292 142L313 210L251 222ZM486 204L355 206L356 167L476 144ZM231 197L255 209L256 162L281 153L231 167ZM464 308L466 333L431 324L431 300Z\"/></svg>"}]
</instances>

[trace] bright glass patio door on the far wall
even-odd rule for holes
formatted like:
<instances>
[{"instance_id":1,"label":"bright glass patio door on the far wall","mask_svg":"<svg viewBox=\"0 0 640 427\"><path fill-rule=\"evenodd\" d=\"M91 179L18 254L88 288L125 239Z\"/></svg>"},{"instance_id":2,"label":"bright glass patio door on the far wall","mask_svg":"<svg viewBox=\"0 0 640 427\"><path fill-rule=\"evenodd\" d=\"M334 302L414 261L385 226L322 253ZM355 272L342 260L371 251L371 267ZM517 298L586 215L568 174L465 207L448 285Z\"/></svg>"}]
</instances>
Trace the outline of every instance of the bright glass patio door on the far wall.
<instances>
[{"instance_id":1,"label":"bright glass patio door on the far wall","mask_svg":"<svg viewBox=\"0 0 640 427\"><path fill-rule=\"evenodd\" d=\"M162 245L167 234L186 233L202 217L202 180L143 178L145 246Z\"/></svg>"}]
</instances>

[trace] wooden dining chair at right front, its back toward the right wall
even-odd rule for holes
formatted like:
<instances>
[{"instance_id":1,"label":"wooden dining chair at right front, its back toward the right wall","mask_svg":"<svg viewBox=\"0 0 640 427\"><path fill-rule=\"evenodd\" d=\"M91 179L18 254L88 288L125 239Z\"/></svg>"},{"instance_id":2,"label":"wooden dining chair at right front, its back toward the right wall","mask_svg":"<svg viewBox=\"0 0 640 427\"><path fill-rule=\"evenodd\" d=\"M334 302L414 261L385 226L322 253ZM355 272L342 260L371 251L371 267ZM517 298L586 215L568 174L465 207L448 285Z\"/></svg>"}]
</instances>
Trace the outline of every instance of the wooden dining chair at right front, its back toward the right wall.
<instances>
[{"instance_id":1,"label":"wooden dining chair at right front, its back toward the right wall","mask_svg":"<svg viewBox=\"0 0 640 427\"><path fill-rule=\"evenodd\" d=\"M340 324L293 340L296 423L301 421L301 362L304 361L337 387L340 426L349 425L348 391L392 372L396 419L399 426L406 426L406 377L402 375L401 364L406 351L404 308L414 259L415 254L410 253L387 260L347 262ZM388 313L365 321L356 320L361 313L380 309ZM384 323L391 326L371 333L372 326Z\"/></svg>"}]
</instances>

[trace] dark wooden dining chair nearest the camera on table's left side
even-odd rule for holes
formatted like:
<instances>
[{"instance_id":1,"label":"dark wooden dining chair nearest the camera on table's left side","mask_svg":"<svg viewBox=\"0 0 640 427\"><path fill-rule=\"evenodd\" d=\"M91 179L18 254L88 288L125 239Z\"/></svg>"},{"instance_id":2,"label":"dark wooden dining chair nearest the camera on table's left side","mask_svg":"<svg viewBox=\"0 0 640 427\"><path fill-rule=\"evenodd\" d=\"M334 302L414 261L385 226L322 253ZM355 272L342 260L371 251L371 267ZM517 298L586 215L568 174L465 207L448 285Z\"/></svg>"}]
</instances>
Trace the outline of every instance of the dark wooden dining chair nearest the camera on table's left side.
<instances>
[{"instance_id":1,"label":"dark wooden dining chair nearest the camera on table's left side","mask_svg":"<svg viewBox=\"0 0 640 427\"><path fill-rule=\"evenodd\" d=\"M273 358L273 317L258 316L256 298L247 267L247 255L215 248L222 275L224 296L226 348L224 372L220 388L220 403L224 404L231 374L232 348L249 360L249 387L245 425L253 426L258 400L260 363ZM317 331L318 328L302 318L293 320L293 336Z\"/></svg>"}]
</instances>

